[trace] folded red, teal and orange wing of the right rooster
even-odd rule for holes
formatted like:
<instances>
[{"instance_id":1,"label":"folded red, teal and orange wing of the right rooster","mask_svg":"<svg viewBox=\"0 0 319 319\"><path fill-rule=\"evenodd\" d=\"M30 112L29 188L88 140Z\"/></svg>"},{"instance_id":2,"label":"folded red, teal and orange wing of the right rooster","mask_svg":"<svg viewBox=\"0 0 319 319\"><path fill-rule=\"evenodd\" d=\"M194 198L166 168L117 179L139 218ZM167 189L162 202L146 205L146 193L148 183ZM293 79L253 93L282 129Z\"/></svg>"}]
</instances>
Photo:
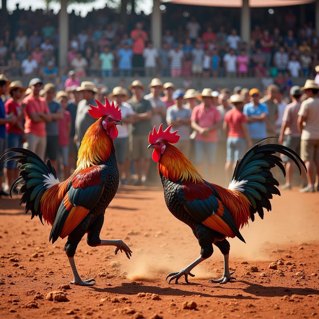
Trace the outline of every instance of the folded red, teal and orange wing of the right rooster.
<instances>
[{"instance_id":1,"label":"folded red, teal and orange wing of the right rooster","mask_svg":"<svg viewBox=\"0 0 319 319\"><path fill-rule=\"evenodd\" d=\"M237 236L245 242L232 214L214 196L210 184L185 182L177 189L177 194L180 196L184 209L199 223L228 237Z\"/></svg>"}]
</instances>

